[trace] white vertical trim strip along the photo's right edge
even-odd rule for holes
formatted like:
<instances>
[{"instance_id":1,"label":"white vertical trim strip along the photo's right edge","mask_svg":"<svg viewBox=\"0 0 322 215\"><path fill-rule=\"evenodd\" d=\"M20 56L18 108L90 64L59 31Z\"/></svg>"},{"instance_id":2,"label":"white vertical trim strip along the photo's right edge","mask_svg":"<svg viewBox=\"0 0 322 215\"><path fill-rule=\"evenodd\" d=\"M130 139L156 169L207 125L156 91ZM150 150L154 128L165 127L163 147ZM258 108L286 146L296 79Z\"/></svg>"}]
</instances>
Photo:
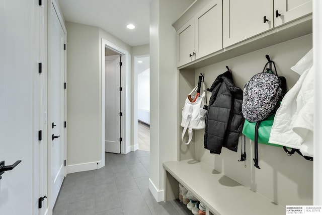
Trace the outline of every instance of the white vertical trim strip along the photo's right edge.
<instances>
[{"instance_id":1,"label":"white vertical trim strip along the photo's right edge","mask_svg":"<svg viewBox=\"0 0 322 215\"><path fill-rule=\"evenodd\" d=\"M320 38L322 37L322 15L320 11L322 10L322 4L320 0L313 0L313 67L315 72L314 78L314 162L313 162L313 205L322 205L322 146L320 144L322 140L322 135L320 130L322 128L322 114L320 112L322 95L320 94L322 87L322 75L320 74L320 69L322 69L322 43Z\"/></svg>"}]
</instances>

